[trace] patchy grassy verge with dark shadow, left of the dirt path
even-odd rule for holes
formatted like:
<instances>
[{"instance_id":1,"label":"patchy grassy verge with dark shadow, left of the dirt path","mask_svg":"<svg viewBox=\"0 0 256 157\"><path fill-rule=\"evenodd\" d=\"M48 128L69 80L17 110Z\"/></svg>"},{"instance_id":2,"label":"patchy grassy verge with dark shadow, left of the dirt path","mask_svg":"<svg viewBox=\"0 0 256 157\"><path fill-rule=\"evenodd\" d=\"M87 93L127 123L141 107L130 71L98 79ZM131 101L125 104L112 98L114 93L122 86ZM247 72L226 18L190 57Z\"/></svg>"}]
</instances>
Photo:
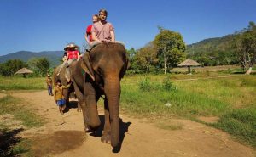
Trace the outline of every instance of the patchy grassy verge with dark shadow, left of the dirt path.
<instances>
[{"instance_id":1,"label":"patchy grassy verge with dark shadow, left of the dirt path","mask_svg":"<svg viewBox=\"0 0 256 157\"><path fill-rule=\"evenodd\" d=\"M32 141L21 138L18 133L32 127L44 125L44 120L27 109L22 99L9 95L0 98L0 132L3 133L0 143L0 156L31 156L29 151Z\"/></svg>"}]
</instances>

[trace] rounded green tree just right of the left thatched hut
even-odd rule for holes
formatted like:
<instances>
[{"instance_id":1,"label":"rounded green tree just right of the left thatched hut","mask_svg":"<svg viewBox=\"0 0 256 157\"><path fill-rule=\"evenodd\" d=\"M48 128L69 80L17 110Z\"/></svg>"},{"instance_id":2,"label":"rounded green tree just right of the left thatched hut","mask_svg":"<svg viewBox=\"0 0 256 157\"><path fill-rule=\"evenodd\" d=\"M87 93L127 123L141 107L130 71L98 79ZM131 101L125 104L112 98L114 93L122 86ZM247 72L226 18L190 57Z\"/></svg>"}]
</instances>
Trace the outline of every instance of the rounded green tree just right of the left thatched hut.
<instances>
[{"instance_id":1,"label":"rounded green tree just right of the left thatched hut","mask_svg":"<svg viewBox=\"0 0 256 157\"><path fill-rule=\"evenodd\" d=\"M49 70L49 60L46 58L35 58L29 60L29 64L34 70L38 70L41 76L46 76Z\"/></svg>"}]
</instances>

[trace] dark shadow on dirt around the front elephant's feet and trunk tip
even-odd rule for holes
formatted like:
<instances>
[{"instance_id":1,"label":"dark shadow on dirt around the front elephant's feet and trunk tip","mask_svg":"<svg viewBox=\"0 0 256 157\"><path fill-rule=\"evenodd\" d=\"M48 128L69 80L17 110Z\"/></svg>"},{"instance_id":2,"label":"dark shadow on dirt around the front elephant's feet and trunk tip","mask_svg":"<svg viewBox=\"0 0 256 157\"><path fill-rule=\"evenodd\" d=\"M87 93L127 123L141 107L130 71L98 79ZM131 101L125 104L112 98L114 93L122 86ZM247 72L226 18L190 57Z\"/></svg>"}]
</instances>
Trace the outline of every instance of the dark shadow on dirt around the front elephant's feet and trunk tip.
<instances>
[{"instance_id":1,"label":"dark shadow on dirt around the front elephant's feet and trunk tip","mask_svg":"<svg viewBox=\"0 0 256 157\"><path fill-rule=\"evenodd\" d=\"M104 129L104 123L105 123L105 116L104 115L99 115L100 120L101 120L101 126L95 131L91 132L89 135L93 137L102 137L102 131ZM113 153L119 153L122 147L122 143L125 138L125 132L128 132L128 128L131 125L131 122L124 122L121 118L119 118L119 145L115 148L113 148Z\"/></svg>"}]
</instances>

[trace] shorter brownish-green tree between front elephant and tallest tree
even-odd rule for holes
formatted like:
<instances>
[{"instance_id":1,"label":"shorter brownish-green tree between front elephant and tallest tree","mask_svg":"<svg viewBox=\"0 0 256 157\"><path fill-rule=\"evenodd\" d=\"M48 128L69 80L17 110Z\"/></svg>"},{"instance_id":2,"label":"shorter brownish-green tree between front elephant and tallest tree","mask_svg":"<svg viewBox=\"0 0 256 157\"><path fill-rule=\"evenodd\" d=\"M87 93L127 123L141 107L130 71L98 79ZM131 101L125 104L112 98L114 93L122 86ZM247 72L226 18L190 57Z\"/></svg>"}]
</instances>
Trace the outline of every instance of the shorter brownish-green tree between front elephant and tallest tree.
<instances>
[{"instance_id":1,"label":"shorter brownish-green tree between front elephant and tallest tree","mask_svg":"<svg viewBox=\"0 0 256 157\"><path fill-rule=\"evenodd\" d=\"M157 50L154 47L152 42L148 43L145 47L137 50L135 55L135 60L137 64L143 67L143 70L146 70L147 73L154 67L154 64L158 62Z\"/></svg>"}]
</instances>

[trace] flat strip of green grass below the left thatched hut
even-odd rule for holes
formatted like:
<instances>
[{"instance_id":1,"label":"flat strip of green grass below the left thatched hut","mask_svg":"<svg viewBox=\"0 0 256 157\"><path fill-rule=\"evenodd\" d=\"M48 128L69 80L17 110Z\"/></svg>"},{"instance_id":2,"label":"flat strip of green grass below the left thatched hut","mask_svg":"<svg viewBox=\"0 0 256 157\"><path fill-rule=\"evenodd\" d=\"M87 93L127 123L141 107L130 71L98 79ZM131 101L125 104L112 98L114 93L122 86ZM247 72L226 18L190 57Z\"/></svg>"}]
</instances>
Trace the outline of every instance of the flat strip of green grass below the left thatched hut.
<instances>
[{"instance_id":1,"label":"flat strip of green grass below the left thatched hut","mask_svg":"<svg viewBox=\"0 0 256 157\"><path fill-rule=\"evenodd\" d=\"M0 90L46 89L45 78L23 78L0 76Z\"/></svg>"}]
</instances>

